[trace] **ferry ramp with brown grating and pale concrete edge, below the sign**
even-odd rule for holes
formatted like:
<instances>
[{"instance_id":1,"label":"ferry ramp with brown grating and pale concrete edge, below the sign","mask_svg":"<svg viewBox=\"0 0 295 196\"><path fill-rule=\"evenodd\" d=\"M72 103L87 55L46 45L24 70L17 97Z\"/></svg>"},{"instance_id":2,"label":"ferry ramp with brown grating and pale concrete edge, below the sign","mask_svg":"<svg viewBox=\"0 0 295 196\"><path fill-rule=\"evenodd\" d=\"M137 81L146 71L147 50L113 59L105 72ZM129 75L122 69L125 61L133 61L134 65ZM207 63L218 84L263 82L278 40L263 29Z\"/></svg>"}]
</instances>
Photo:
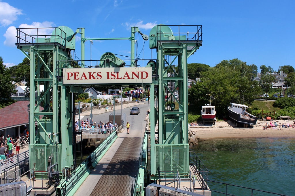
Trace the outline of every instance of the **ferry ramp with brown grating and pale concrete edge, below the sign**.
<instances>
[{"instance_id":1,"label":"ferry ramp with brown grating and pale concrete edge, below the sign","mask_svg":"<svg viewBox=\"0 0 295 196\"><path fill-rule=\"evenodd\" d=\"M129 134L126 128L118 133L118 138L74 195L131 195L146 124L143 119L138 119L135 117L129 120Z\"/></svg>"}]
</instances>

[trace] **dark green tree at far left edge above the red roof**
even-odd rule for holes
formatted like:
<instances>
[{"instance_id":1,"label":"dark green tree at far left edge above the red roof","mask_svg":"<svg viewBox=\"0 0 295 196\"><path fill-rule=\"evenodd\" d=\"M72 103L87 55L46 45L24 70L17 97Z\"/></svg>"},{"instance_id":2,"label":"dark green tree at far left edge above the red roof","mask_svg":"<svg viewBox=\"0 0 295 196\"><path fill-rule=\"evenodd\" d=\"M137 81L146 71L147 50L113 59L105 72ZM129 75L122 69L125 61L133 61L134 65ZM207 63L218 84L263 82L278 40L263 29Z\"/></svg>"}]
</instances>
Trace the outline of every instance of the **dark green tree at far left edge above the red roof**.
<instances>
[{"instance_id":1,"label":"dark green tree at far left edge above the red roof","mask_svg":"<svg viewBox=\"0 0 295 196\"><path fill-rule=\"evenodd\" d=\"M17 91L12 84L9 69L3 64L3 59L0 57L0 108L12 104L14 101L10 98L11 94Z\"/></svg>"}]
</instances>

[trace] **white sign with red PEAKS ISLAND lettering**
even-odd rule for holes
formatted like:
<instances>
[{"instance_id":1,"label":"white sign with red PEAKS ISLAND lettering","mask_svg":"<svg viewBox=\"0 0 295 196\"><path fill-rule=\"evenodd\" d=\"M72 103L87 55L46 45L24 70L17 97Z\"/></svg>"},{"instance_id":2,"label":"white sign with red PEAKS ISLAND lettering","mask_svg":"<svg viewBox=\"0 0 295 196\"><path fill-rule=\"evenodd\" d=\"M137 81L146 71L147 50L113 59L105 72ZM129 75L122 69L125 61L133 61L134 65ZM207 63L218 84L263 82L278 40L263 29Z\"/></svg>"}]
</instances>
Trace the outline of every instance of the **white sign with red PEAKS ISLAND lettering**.
<instances>
[{"instance_id":1,"label":"white sign with red PEAKS ISLAND lettering","mask_svg":"<svg viewBox=\"0 0 295 196\"><path fill-rule=\"evenodd\" d=\"M66 68L63 84L152 83L152 67Z\"/></svg>"}]
</instances>

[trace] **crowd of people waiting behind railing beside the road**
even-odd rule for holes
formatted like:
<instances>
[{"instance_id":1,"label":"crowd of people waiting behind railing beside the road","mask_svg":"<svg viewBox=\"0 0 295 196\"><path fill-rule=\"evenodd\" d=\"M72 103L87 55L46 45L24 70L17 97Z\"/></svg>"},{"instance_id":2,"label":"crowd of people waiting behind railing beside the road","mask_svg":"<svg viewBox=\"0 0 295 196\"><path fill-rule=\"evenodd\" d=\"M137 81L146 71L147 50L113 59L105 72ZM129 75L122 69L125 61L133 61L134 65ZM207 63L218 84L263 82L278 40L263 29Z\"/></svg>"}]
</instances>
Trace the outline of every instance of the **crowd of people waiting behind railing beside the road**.
<instances>
[{"instance_id":1,"label":"crowd of people waiting behind railing beside the road","mask_svg":"<svg viewBox=\"0 0 295 196\"><path fill-rule=\"evenodd\" d=\"M92 122L91 122L92 121ZM93 130L93 131L96 131L98 134L100 133L110 133L114 128L117 129L118 128L118 125L117 125L117 122L115 121L115 124L113 125L112 122L106 122L106 123L103 123L103 122L99 122L99 123L96 123L94 122L93 123L93 120L91 119L91 121L89 121L89 119L87 118L86 120L81 120L80 122L80 126L79 126L79 120L75 122L75 131L78 131L78 130L86 130L86 131L89 131L89 130Z\"/></svg>"}]
</instances>

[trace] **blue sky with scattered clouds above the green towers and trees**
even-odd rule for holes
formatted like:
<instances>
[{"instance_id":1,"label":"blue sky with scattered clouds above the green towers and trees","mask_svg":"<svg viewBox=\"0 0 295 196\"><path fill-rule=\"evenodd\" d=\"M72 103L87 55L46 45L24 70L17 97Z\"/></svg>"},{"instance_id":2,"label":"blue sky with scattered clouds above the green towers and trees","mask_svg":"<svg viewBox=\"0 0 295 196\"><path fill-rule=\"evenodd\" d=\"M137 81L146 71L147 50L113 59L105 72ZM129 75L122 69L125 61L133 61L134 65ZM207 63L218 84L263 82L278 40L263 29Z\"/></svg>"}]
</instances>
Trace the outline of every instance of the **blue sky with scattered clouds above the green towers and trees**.
<instances>
[{"instance_id":1,"label":"blue sky with scattered clouds above the green towers and trees","mask_svg":"<svg viewBox=\"0 0 295 196\"><path fill-rule=\"evenodd\" d=\"M130 37L131 26L149 35L157 24L185 24L203 25L203 46L189 57L188 63L214 67L222 60L237 58L248 65L257 65L258 72L263 64L277 71L279 66L295 66L294 9L292 0L52 0L42 3L0 0L0 56L6 67L24 59L24 54L15 46L15 28L68 26L76 31L83 27L87 38L114 38ZM80 58L79 37L76 38L76 55ZM138 51L143 44L139 37ZM85 48L85 57L90 59L90 41ZM104 52L130 56L130 41L93 41L91 59L100 59ZM150 53L145 42L139 58L150 59Z\"/></svg>"}]
</instances>

